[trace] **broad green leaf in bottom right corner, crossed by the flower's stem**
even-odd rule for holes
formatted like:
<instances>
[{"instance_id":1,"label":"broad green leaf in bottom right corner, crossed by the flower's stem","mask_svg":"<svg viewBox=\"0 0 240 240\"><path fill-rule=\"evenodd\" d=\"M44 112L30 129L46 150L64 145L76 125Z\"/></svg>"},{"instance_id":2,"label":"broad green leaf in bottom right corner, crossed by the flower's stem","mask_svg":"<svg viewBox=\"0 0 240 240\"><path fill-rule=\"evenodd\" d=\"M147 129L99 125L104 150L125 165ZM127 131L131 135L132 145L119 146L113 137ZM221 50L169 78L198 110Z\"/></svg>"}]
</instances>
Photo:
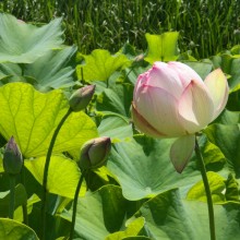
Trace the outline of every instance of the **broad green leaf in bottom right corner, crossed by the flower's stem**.
<instances>
[{"instance_id":1,"label":"broad green leaf in bottom right corner, crossed by the flower's stem","mask_svg":"<svg viewBox=\"0 0 240 240\"><path fill-rule=\"evenodd\" d=\"M240 204L215 205L216 239L240 239ZM171 190L147 201L136 217L145 218L151 239L200 240L209 239L207 204L181 201L178 190Z\"/></svg>"}]
</instances>

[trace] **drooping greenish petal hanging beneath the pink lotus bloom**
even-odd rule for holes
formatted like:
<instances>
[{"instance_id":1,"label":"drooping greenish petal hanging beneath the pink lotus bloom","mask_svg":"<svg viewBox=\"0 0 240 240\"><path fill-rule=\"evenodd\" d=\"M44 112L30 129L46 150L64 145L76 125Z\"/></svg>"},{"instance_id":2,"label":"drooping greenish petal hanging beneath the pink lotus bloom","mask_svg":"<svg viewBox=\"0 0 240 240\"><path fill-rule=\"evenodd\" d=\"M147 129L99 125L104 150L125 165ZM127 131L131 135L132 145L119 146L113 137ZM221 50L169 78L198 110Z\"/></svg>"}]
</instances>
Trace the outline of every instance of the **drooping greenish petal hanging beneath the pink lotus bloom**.
<instances>
[{"instance_id":1,"label":"drooping greenish petal hanging beneath the pink lotus bloom","mask_svg":"<svg viewBox=\"0 0 240 240\"><path fill-rule=\"evenodd\" d=\"M182 172L195 147L195 135L184 135L177 139L170 148L171 163L176 171Z\"/></svg>"}]
</instances>

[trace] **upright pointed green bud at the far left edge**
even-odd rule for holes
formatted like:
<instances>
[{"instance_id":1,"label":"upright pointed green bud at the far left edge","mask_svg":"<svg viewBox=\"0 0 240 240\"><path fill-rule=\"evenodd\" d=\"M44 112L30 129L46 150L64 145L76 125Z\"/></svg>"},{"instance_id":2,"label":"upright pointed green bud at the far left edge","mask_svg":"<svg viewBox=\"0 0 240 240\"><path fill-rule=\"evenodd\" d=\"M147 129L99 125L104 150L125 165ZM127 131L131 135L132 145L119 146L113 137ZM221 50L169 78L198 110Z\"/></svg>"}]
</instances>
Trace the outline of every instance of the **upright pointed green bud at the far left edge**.
<instances>
[{"instance_id":1,"label":"upright pointed green bud at the far left edge","mask_svg":"<svg viewBox=\"0 0 240 240\"><path fill-rule=\"evenodd\" d=\"M5 151L3 154L3 168L9 175L20 173L23 166L22 153L12 136L5 145Z\"/></svg>"}]
</instances>

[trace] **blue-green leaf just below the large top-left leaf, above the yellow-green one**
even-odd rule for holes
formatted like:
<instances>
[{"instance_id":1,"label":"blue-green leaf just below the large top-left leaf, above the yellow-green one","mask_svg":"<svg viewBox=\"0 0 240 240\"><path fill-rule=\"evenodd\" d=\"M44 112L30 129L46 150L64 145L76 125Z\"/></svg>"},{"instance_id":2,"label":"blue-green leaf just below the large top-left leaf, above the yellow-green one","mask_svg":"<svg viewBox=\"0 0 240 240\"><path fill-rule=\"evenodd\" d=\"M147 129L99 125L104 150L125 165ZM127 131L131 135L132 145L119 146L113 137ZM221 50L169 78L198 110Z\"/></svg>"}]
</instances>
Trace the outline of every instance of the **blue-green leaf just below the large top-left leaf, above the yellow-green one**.
<instances>
[{"instance_id":1,"label":"blue-green leaf just below the large top-left leaf, above the yellow-green one","mask_svg":"<svg viewBox=\"0 0 240 240\"><path fill-rule=\"evenodd\" d=\"M48 51L31 64L0 63L1 83L29 82L40 91L63 88L74 84L70 60L76 47Z\"/></svg>"}]
</instances>

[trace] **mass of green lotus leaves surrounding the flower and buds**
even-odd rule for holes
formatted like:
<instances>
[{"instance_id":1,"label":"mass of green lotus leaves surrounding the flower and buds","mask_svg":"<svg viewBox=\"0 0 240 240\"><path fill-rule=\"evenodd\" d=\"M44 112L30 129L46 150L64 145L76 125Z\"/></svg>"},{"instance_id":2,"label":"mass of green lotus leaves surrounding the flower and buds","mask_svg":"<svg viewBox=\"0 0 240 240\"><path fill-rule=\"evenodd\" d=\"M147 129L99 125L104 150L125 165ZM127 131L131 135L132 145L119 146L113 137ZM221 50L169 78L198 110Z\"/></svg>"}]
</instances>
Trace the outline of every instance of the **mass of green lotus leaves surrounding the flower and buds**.
<instances>
[{"instance_id":1,"label":"mass of green lotus leaves surrounding the flower and buds","mask_svg":"<svg viewBox=\"0 0 240 240\"><path fill-rule=\"evenodd\" d=\"M10 17L14 28L22 29L13 16L2 16L7 24ZM41 27L47 29L51 24ZM43 29L28 24L24 27ZM60 25L57 28L60 29ZM57 29L51 34L53 39L63 37ZM154 60L185 62L203 79L220 67L228 76L227 108L199 140L215 202L217 239L240 238L240 47L201 61L185 52L176 53L176 39L167 43L167 51L153 50L160 39L170 35L147 34L149 51L141 56L133 46L125 45L116 55L98 49L91 55L79 52L75 60L74 47L55 41L46 51L40 51L45 45L38 46L40 56L27 51L31 61L21 55L17 61L8 58L0 63L1 239L39 239L41 236L43 179L49 143L68 112L69 95L88 83L96 85L94 98L85 111L71 112L53 146L47 182L46 239L69 237L72 200L82 176L77 166L80 148L98 135L110 136L112 148L107 166L85 176L77 201L74 239L208 238L206 197L195 155L184 171L177 173L169 160L173 140L146 137L131 120L134 83ZM16 36L5 37L12 43ZM28 36L22 37L23 44L26 43ZM0 49L4 43L0 41ZM33 79L36 81L31 81ZM10 188L9 176L2 167L2 152L12 135L22 151L24 168L16 179L14 219L7 219Z\"/></svg>"}]
</instances>

